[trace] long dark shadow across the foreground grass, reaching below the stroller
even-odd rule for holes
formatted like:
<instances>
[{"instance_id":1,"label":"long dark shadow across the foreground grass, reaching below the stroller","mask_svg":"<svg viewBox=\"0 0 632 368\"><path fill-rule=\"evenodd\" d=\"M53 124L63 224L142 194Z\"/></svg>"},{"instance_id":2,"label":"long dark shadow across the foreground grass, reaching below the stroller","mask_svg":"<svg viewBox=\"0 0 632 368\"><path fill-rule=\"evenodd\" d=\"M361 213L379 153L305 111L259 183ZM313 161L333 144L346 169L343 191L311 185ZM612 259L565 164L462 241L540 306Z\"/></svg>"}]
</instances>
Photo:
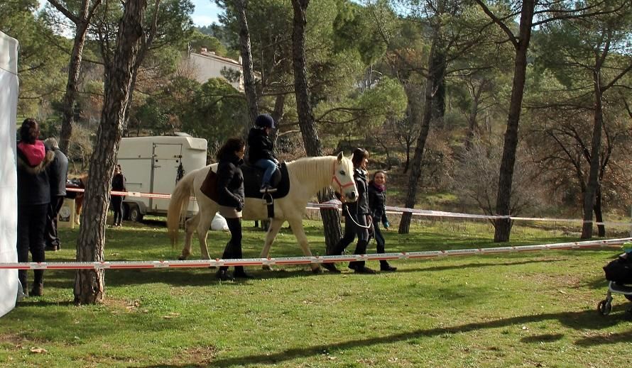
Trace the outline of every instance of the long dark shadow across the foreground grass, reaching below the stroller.
<instances>
[{"instance_id":1,"label":"long dark shadow across the foreground grass, reaching below the stroller","mask_svg":"<svg viewBox=\"0 0 632 368\"><path fill-rule=\"evenodd\" d=\"M269 352L261 355L248 355L245 357L233 357L225 359L217 359L205 367L229 367L229 366L259 366L263 364L281 364L293 359L322 355L323 352L331 352L337 350L349 350L359 347L370 347L374 345L393 344L407 340L418 338L432 338L445 334L469 333L476 330L484 330L488 328L503 328L513 325L523 325L527 323L538 323L547 320L557 320L563 325L576 330L599 330L608 328L621 322L617 318L599 318L596 311L581 312L565 312L565 313L543 313L534 316L517 316L511 318L501 318L487 322L467 323L465 325L457 325L449 328L430 328L426 330L415 330L408 333L398 333L394 335L378 336L375 338L349 340L347 342L339 342L329 345L314 345L311 347L296 347L292 349L281 350L278 352ZM632 338L632 331L618 334L604 334L607 338L584 338L575 342L576 345L589 346L604 343L628 342ZM539 335L533 338L523 339L523 342L552 342L559 340L562 335ZM194 364L182 365L150 365L143 367L198 367Z\"/></svg>"}]
</instances>

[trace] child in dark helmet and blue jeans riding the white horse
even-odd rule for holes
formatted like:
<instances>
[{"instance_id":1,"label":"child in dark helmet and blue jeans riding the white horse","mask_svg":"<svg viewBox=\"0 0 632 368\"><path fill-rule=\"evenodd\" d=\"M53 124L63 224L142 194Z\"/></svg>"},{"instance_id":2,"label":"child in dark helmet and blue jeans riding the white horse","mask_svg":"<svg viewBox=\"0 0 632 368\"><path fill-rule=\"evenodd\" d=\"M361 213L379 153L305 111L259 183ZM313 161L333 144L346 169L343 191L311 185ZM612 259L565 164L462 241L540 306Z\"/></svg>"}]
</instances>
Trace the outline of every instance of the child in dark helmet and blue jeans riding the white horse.
<instances>
[{"instance_id":1,"label":"child in dark helmet and blue jeans riding the white horse","mask_svg":"<svg viewBox=\"0 0 632 368\"><path fill-rule=\"evenodd\" d=\"M274 157L274 145L268 136L274 128L272 116L262 113L257 116L255 126L248 133L248 161L251 165L266 170L261 183L262 193L276 190L272 188L271 179L278 166L278 160Z\"/></svg>"}]
</instances>

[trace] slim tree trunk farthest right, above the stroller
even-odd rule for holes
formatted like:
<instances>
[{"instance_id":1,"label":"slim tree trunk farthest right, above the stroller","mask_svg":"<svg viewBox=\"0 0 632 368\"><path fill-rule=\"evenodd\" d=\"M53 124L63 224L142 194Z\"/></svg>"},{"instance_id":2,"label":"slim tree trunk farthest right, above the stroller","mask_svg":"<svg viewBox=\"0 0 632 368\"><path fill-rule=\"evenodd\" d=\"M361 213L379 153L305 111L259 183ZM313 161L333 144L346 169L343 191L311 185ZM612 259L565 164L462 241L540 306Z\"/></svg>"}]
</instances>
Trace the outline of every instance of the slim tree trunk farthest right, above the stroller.
<instances>
[{"instance_id":1,"label":"slim tree trunk farthest right, above the stroller","mask_svg":"<svg viewBox=\"0 0 632 368\"><path fill-rule=\"evenodd\" d=\"M592 128L592 142L590 148L590 169L588 184L584 196L584 225L582 239L592 238L592 211L595 206L595 194L599 188L599 151L601 150L601 130L604 127L604 111L601 105L601 80L599 66L593 73L594 85L594 126Z\"/></svg>"}]
</instances>

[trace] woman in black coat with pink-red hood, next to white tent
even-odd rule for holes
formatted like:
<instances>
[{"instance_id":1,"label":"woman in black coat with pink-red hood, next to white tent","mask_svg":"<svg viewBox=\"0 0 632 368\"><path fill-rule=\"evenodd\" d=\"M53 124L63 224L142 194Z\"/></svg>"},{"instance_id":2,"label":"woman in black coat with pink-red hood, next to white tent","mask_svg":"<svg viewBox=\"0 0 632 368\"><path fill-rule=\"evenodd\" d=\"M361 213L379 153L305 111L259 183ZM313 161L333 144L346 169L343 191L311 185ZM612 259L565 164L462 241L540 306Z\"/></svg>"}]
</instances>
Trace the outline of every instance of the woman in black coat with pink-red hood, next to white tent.
<instances>
[{"instance_id":1,"label":"woman in black coat with pink-red hood, next to white tent","mask_svg":"<svg viewBox=\"0 0 632 368\"><path fill-rule=\"evenodd\" d=\"M55 160L55 153L46 149L38 140L40 129L37 121L27 118L20 128L17 145L18 169L18 262L28 262L31 252L33 262L45 262L44 231L50 203L50 179L48 166ZM44 270L33 271L31 296L44 292ZM28 295L26 269L18 270L18 279L24 294Z\"/></svg>"}]
</instances>

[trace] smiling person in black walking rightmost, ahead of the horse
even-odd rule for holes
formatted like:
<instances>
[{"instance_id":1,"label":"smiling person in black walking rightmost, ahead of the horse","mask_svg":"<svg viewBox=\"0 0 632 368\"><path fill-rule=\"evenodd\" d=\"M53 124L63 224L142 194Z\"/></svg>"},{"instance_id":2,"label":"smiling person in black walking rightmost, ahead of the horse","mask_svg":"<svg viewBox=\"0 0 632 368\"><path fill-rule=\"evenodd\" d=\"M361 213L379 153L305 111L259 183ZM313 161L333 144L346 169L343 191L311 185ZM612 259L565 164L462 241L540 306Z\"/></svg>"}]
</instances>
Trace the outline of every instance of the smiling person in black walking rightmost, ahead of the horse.
<instances>
[{"instance_id":1,"label":"smiling person in black walking rightmost, ahead of the horse","mask_svg":"<svg viewBox=\"0 0 632 368\"><path fill-rule=\"evenodd\" d=\"M373 225L373 236L377 242L377 252L384 253L386 240L380 230L380 223L388 230L391 224L386 218L386 172L378 170L374 172L373 179L369 182L369 209L371 210L371 225ZM392 267L386 260L380 260L380 270L393 272L397 267Z\"/></svg>"}]
</instances>

